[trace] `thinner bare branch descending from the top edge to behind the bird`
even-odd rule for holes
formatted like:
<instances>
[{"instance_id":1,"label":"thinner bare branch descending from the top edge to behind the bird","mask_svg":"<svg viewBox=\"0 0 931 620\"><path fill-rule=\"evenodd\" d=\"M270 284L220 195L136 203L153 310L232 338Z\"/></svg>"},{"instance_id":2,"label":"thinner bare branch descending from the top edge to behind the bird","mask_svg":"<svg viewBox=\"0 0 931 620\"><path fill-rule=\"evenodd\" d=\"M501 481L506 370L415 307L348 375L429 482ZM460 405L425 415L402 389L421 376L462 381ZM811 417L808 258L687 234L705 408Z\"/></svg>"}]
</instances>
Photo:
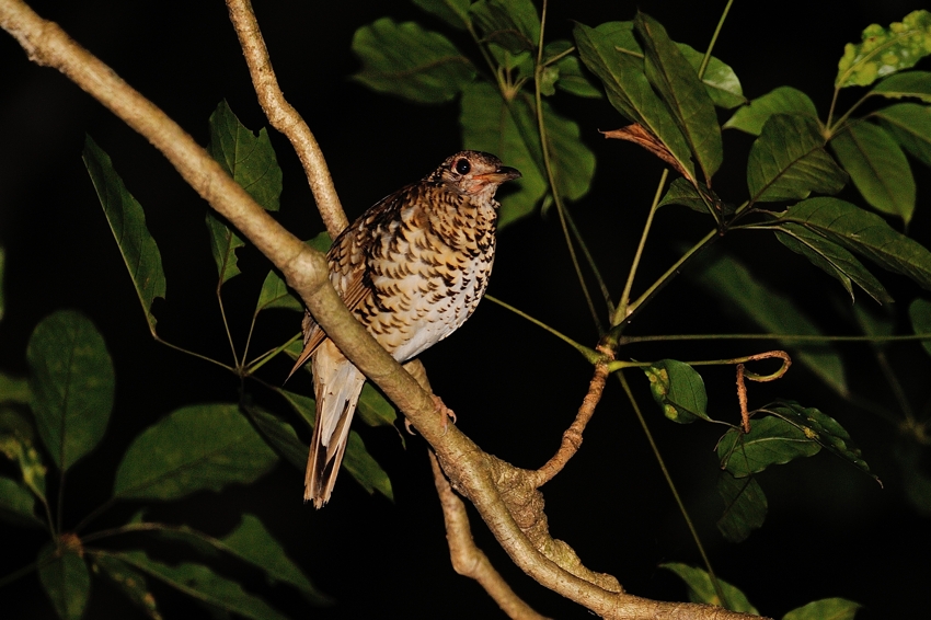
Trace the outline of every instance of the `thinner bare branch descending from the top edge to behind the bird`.
<instances>
[{"instance_id":1,"label":"thinner bare branch descending from the top edge to behind the bird","mask_svg":"<svg viewBox=\"0 0 931 620\"><path fill-rule=\"evenodd\" d=\"M252 11L252 2L227 0L227 8L230 11L230 21L235 28L235 34L239 36L239 44L242 47L245 64L249 66L258 103L272 126L291 141L303 164L304 174L317 199L317 208L323 217L326 231L332 239L336 239L349 222L340 204L336 188L333 186L333 177L326 168L323 151L320 150L320 145L317 143L310 127L298 111L288 103L278 85L272 60L268 58L268 49L265 47L265 39L262 37L258 22L255 21L255 13Z\"/></svg>"}]
</instances>

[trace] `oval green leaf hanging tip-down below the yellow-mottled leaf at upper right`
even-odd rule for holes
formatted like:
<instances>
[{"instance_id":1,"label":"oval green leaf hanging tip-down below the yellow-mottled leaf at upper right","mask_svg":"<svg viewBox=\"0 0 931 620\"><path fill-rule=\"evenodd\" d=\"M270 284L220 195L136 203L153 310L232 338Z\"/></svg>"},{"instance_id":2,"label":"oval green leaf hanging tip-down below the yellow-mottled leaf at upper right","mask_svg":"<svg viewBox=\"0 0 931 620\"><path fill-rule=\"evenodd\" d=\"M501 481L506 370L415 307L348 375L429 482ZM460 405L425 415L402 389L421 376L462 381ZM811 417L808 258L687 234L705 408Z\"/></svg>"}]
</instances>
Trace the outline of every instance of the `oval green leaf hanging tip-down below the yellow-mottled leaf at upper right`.
<instances>
[{"instance_id":1,"label":"oval green leaf hanging tip-down below the yellow-mottled leaf at upper right","mask_svg":"<svg viewBox=\"0 0 931 620\"><path fill-rule=\"evenodd\" d=\"M915 213L915 179L905 153L885 129L872 123L847 126L831 139L837 160L870 205L900 217Z\"/></svg>"}]
</instances>

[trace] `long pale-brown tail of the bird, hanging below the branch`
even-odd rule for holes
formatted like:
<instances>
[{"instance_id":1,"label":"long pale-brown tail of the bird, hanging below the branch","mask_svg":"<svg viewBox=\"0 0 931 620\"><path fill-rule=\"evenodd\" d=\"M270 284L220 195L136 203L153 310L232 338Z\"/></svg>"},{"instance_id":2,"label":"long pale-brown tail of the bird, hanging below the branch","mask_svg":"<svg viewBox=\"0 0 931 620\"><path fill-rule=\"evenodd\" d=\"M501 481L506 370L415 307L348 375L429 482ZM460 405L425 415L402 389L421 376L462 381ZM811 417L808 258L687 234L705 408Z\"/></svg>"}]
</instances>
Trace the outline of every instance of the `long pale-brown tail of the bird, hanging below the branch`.
<instances>
[{"instance_id":1,"label":"long pale-brown tail of the bird, hanging below the branch","mask_svg":"<svg viewBox=\"0 0 931 620\"><path fill-rule=\"evenodd\" d=\"M313 388L317 394L317 422L304 478L304 501L313 500L322 508L330 500L340 463L349 439L349 425L365 383L365 375L325 341L313 356Z\"/></svg>"}]
</instances>

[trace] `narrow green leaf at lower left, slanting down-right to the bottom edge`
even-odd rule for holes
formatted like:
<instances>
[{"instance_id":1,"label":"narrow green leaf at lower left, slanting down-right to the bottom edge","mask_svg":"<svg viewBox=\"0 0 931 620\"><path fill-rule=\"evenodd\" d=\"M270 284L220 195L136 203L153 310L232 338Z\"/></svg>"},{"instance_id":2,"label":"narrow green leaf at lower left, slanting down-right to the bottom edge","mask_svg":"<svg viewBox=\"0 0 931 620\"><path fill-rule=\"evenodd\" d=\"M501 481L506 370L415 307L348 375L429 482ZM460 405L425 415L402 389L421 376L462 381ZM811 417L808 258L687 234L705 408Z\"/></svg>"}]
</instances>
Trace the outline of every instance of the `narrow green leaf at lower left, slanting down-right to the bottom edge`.
<instances>
[{"instance_id":1,"label":"narrow green leaf at lower left, slanting down-right to the bottom edge","mask_svg":"<svg viewBox=\"0 0 931 620\"><path fill-rule=\"evenodd\" d=\"M150 560L143 551L112 553L184 594L252 620L288 620L257 596L245 593L238 583L221 577L203 564L183 562L169 566Z\"/></svg>"}]
</instances>

